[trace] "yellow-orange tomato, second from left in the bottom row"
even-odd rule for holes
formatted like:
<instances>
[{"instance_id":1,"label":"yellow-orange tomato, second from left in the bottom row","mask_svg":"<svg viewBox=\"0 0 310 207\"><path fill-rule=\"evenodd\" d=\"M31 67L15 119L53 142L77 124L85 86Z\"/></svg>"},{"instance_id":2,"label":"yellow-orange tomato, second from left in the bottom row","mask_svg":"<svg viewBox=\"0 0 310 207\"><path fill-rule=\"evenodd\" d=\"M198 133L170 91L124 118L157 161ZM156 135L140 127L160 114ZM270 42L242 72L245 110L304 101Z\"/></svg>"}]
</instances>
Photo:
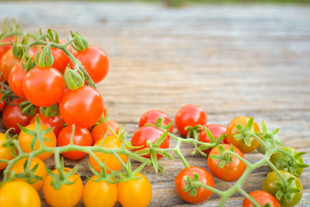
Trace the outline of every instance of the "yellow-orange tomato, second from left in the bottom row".
<instances>
[{"instance_id":1,"label":"yellow-orange tomato, second from left in the bottom row","mask_svg":"<svg viewBox=\"0 0 310 207\"><path fill-rule=\"evenodd\" d=\"M70 168L65 168L66 174L70 171ZM59 174L57 169L52 172ZM68 180L75 182L71 185L63 184L61 188L56 190L50 185L52 177L50 175L46 177L43 186L43 193L46 201L48 201L48 204L54 207L70 207L79 203L83 195L82 179L78 174L74 174L70 176Z\"/></svg>"}]
</instances>

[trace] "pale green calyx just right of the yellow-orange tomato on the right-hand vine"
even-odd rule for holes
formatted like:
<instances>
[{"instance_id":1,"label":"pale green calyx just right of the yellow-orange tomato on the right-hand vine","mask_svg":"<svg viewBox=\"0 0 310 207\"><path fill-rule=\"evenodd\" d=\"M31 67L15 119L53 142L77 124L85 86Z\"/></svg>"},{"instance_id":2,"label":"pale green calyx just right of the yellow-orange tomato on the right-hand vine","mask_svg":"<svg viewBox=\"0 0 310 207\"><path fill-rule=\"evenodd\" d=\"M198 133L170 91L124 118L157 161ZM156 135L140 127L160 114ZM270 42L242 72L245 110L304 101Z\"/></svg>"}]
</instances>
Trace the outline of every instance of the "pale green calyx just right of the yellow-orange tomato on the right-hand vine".
<instances>
[{"instance_id":1,"label":"pale green calyx just right of the yellow-orange tomato on the right-hand vine","mask_svg":"<svg viewBox=\"0 0 310 207\"><path fill-rule=\"evenodd\" d=\"M263 132L263 134L262 134L261 139L271 150L278 148L278 146L282 146L282 143L280 142L280 138L277 135L279 130L280 130L280 128L276 128L270 132L267 129L265 121L262 121L262 132ZM266 149L261 144L260 144L260 146L258 146L257 150L261 154L265 155Z\"/></svg>"}]
</instances>

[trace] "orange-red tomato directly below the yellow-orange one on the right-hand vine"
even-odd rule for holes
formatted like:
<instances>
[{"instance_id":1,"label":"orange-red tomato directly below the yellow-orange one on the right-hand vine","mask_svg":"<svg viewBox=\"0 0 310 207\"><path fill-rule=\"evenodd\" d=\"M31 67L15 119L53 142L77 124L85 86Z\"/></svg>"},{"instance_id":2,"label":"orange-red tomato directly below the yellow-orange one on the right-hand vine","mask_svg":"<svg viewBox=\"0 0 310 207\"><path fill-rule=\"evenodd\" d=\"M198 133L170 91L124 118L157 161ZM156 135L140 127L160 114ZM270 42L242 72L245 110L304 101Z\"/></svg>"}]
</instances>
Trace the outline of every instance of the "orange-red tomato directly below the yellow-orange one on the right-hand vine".
<instances>
[{"instance_id":1,"label":"orange-red tomato directly below the yellow-orange one on the right-hand vine","mask_svg":"<svg viewBox=\"0 0 310 207\"><path fill-rule=\"evenodd\" d=\"M225 150L229 150L231 148L230 144L223 144L222 146L225 148ZM208 168L210 172L212 173L212 175L223 181L236 181L241 177L243 172L245 172L245 168L247 168L247 165L240 161L240 159L232 156L231 162L227 162L223 168L219 168L218 164L220 164L220 161L211 159L211 155L220 155L218 147L219 146L213 148L208 156ZM236 146L234 146L234 150L237 155L245 158L245 156Z\"/></svg>"}]
</instances>

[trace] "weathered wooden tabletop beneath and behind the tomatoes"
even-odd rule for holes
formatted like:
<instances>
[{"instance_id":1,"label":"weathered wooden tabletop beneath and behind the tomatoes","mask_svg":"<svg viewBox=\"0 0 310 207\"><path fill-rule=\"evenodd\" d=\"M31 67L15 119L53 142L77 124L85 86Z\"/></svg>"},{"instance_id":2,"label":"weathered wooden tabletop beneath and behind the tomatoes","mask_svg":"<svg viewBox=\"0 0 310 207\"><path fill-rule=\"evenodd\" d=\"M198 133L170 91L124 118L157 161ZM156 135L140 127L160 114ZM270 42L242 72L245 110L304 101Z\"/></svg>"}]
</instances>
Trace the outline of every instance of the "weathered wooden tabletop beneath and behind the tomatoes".
<instances>
[{"instance_id":1,"label":"weathered wooden tabletop beneath and behind the tomatoes","mask_svg":"<svg viewBox=\"0 0 310 207\"><path fill-rule=\"evenodd\" d=\"M163 110L172 119L181 106L195 103L208 115L208 124L227 126L237 116L265 120L280 127L285 146L310 152L310 7L309 6L185 6L161 3L0 2L0 19L22 19L31 32L53 28L62 38L70 30L87 37L110 57L110 72L98 84L112 119L123 124L129 139L147 110ZM1 124L1 131L4 126ZM177 134L176 130L174 132ZM174 141L171 143L174 144ZM183 152L190 165L207 168L206 159ZM176 157L176 156L174 156ZM262 156L246 155L251 162ZM85 183L87 157L69 161L80 165ZM310 164L309 155L304 160ZM46 164L53 168L52 158ZM193 206L176 195L174 177L180 159L161 159L167 175L146 167L153 197L149 206ZM134 164L137 166L137 163ZM249 176L243 188L260 190L267 166ZM310 170L304 171L304 197L309 206ZM234 183L216 179L225 190ZM43 206L48 206L40 191ZM217 206L217 195L197 206ZM234 195L227 206L241 206ZM82 203L79 206L83 206ZM120 204L116 204L120 206Z\"/></svg>"}]
</instances>

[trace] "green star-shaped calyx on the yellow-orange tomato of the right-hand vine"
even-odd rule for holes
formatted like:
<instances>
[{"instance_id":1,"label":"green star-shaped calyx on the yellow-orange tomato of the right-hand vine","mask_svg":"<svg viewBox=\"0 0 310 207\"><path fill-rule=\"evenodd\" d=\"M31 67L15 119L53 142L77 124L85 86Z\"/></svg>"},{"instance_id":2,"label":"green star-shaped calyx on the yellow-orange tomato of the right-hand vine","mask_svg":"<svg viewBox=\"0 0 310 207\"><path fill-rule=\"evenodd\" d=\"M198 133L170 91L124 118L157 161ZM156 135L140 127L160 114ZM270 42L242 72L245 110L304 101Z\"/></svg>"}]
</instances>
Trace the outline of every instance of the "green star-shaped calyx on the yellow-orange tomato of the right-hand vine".
<instances>
[{"instance_id":1,"label":"green star-shaped calyx on the yellow-orange tomato of the right-hand vine","mask_svg":"<svg viewBox=\"0 0 310 207\"><path fill-rule=\"evenodd\" d=\"M235 135L236 140L241 140L245 141L245 144L247 146L251 146L251 139L253 139L256 136L261 136L262 132L251 132L251 129L254 126L254 118L251 117L249 121L247 121L247 126L245 128L241 126L240 124L236 125L237 130L240 132L240 134Z\"/></svg>"}]
</instances>

